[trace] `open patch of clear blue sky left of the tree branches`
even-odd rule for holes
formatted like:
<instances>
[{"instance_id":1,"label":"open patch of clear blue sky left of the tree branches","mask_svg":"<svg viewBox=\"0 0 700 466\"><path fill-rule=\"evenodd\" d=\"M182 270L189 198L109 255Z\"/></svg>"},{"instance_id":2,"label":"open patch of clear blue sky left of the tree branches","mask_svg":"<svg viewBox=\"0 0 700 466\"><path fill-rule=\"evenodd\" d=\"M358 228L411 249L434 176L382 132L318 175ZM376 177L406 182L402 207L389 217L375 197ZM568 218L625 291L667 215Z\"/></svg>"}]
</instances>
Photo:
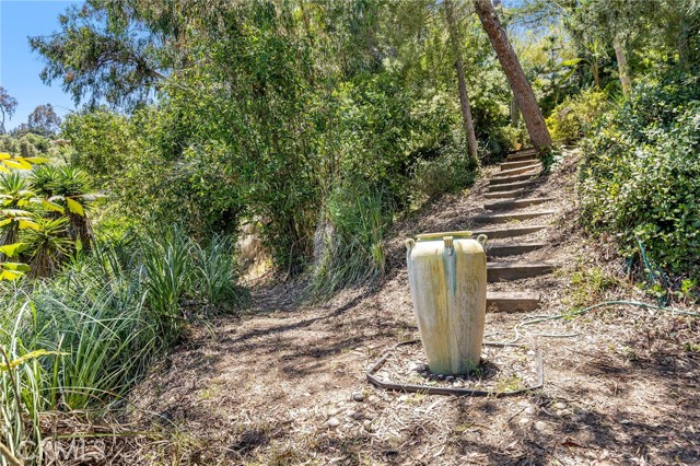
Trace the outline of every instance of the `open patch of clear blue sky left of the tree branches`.
<instances>
[{"instance_id":1,"label":"open patch of clear blue sky left of the tree branches","mask_svg":"<svg viewBox=\"0 0 700 466\"><path fill-rule=\"evenodd\" d=\"M44 68L38 54L32 53L27 36L48 35L58 30L58 15L71 3L63 0L0 0L0 85L18 100L14 117L5 126L26 123L37 105L51 104L60 116L74 108L60 82L50 86L39 79Z\"/></svg>"}]
</instances>

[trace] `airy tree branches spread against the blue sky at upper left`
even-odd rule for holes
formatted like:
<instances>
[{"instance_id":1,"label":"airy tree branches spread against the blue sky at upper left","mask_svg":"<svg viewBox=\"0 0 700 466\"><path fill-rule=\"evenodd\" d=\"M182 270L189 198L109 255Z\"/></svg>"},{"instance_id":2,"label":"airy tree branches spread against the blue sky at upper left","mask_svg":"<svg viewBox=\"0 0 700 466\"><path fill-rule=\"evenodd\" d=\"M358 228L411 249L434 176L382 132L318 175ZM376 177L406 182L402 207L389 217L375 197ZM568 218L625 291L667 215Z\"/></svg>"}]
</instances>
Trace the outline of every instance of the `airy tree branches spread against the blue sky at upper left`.
<instances>
[{"instance_id":1,"label":"airy tree branches spread against the blue sky at upper left","mask_svg":"<svg viewBox=\"0 0 700 466\"><path fill-rule=\"evenodd\" d=\"M60 30L30 38L45 59L40 78L60 81L77 103L133 108L187 57L186 14L199 2L86 0L58 19ZM212 8L215 5L212 4Z\"/></svg>"}]
</instances>

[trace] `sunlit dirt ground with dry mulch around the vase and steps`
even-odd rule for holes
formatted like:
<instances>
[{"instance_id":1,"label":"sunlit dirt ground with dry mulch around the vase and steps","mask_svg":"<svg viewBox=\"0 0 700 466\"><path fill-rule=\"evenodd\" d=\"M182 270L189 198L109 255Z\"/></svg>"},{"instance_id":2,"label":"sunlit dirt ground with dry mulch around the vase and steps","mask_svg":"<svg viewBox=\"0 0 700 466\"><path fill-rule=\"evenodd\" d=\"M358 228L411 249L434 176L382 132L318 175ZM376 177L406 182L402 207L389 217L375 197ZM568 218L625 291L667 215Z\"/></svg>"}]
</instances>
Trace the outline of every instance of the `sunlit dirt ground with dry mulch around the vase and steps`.
<instances>
[{"instance_id":1,"label":"sunlit dirt ground with dry mulch around the vase and steps","mask_svg":"<svg viewBox=\"0 0 700 466\"><path fill-rule=\"evenodd\" d=\"M574 175L572 155L537 187L557 198L557 213L545 220L545 232L525 237L549 246L522 259L557 260L561 268L517 286L540 291L540 308L489 313L490 338L510 338L513 326L533 315L641 298L617 270L611 246L576 230ZM388 245L390 272L378 290L350 290L323 305L300 306L293 283L260 289L250 315L195 328L133 395L135 420L160 426L167 438L144 440L142 462L700 464L700 327L689 317L618 306L526 327L521 342L545 358L545 386L528 395L455 398L366 384L370 363L394 343L418 337L404 238L468 226L470 217L483 213L487 189L481 179L471 193L443 199L399 225Z\"/></svg>"}]
</instances>

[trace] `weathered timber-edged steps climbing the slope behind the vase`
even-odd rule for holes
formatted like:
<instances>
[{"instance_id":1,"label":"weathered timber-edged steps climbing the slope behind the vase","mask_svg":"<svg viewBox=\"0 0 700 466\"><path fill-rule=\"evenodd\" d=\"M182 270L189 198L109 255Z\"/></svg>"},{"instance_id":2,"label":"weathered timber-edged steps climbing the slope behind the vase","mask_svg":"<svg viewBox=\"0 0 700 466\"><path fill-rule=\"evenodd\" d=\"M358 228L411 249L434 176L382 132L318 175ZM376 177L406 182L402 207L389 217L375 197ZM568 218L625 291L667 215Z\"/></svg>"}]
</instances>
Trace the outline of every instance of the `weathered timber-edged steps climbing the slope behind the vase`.
<instances>
[{"instance_id":1,"label":"weathered timber-edged steps climbing the slope behind the vase","mask_svg":"<svg viewBox=\"0 0 700 466\"><path fill-rule=\"evenodd\" d=\"M470 219L472 224L479 225L474 231L475 236L486 234L489 240L497 241L497 244L487 247L489 283L517 282L517 280L550 273L556 267L550 261L508 260L510 256L528 254L547 245L541 241L520 238L520 236L532 235L547 229L546 219L556 213L553 210L545 209L518 211L556 200L551 197L529 197L530 191L537 186L536 177L540 171L541 164L534 150L528 149L510 154L501 164L500 172L489 180L488 193L485 195L486 199L494 200L485 203L485 209L498 213ZM522 221L539 218L542 221L535 220L537 224L518 224ZM539 301L539 293L534 291L489 290L487 307L499 312L528 312L536 310Z\"/></svg>"}]
</instances>

